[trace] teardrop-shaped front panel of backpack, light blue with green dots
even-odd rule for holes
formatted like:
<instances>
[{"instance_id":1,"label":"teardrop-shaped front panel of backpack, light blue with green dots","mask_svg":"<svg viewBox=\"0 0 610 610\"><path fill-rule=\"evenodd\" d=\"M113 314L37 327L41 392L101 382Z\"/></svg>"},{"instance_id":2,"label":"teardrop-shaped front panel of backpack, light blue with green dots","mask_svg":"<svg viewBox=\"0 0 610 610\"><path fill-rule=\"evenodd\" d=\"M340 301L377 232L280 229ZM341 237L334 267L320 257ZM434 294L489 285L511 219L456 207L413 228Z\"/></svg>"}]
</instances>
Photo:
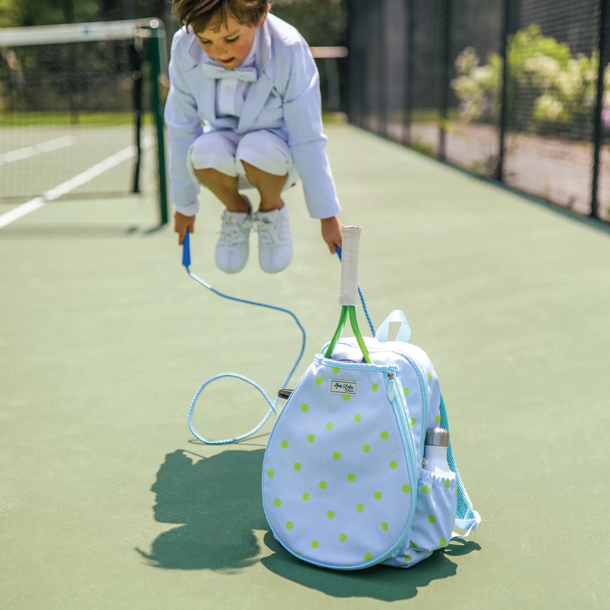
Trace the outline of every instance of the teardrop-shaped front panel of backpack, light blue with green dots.
<instances>
[{"instance_id":1,"label":"teardrop-shaped front panel of backpack, light blue with green dots","mask_svg":"<svg viewBox=\"0 0 610 610\"><path fill-rule=\"evenodd\" d=\"M357 393L339 399L329 391L331 379L357 382ZM404 385L397 381L400 391ZM409 410L420 419L413 378L405 385L414 388ZM265 514L293 554L357 569L397 544L411 518L411 496L404 494L417 481L410 480L407 439L394 406L382 370L316 360L298 382L271 432L263 465ZM447 537L438 532L435 539L441 536Z\"/></svg>"}]
</instances>

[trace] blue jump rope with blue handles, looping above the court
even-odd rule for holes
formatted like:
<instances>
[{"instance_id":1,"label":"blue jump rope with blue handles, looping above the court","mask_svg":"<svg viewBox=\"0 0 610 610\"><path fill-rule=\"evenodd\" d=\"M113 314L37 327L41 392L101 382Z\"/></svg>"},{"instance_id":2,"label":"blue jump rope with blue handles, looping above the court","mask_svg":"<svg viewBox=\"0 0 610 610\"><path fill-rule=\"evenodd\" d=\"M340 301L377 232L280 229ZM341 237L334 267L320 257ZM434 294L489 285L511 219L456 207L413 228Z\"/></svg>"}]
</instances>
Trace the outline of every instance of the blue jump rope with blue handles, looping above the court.
<instances>
[{"instance_id":1,"label":"blue jump rope with blue handles, looping above the court","mask_svg":"<svg viewBox=\"0 0 610 610\"><path fill-rule=\"evenodd\" d=\"M341 249L338 246L337 246L337 255L339 256L339 260L341 260ZM303 328L303 325L301 324L301 321L296 316L296 314L293 313L292 311L290 311L290 309L286 309L285 307L279 307L278 305L269 305L267 303L259 303L259 301L250 301L249 299L241 299L237 296L226 295L226 294L224 294L224 292L220 292L220 290L216 290L215 288L210 286L210 284L208 284L206 281L204 281L203 279L196 276L195 273L193 273L190 270L190 234L188 233L188 231L184 237L184 242L182 242L182 265L184 265L184 268L187 270L187 273L191 278L193 278L196 282L198 282L199 284L201 284L208 290L211 290L215 295L222 296L224 299L228 299L229 301L237 301L237 303L246 303L248 305L256 305L257 307L266 307L267 309L274 309L276 311L282 311L282 312L284 312L284 314L288 314L295 321L296 326L299 327L301 334L303 335L303 340L301 342L301 351L299 352L299 355L296 357L295 364L293 364L292 367L290 367L290 370L288 371L288 375L286 375L286 378L284 379L284 382L282 383L282 387L280 388L280 390L285 389L287 383L290 381L290 378L292 377L292 373L295 372L296 367L298 367L299 362L301 362L301 358L303 357L303 353L305 351L305 337L306 337L305 329ZM360 289L360 286L358 286L358 293L360 295L360 300L362 302L362 309L364 310L364 314L367 317L368 326L370 326L371 332L373 333L373 336L375 336L375 327L373 326L373 322L371 321L370 315L368 315L367 304L364 301L364 296L362 295L362 290ZM223 440L204 439L204 437L201 436L200 434L198 434L196 432L195 428L193 428L193 409L195 409L195 403L197 402L197 399L199 398L199 394L201 394L201 392L203 392L203 389L207 385L212 383L212 381L216 381L217 379L221 379L223 377L234 377L236 379L241 379L242 381L249 383L251 386L256 387L256 389L259 390L259 392L263 395L263 397L267 401L267 404L269 405L269 409L268 409L267 413L265 413L265 417L263 417L262 420L260 420L260 422L256 426L254 426L253 429L251 429L249 432L245 432L245 434L240 434L240 436L235 436L232 439L223 439ZM193 396L193 400L191 401L190 407L188 408L188 428L190 428L190 431L193 432L193 435L195 436L196 439L201 440L201 442L205 443L206 445L228 445L229 443L235 443L238 440L247 439L249 436L252 436L255 432L257 432L261 428L261 426L264 425L265 422L267 422L267 420L272 412L277 414L276 404L278 404L278 400L279 400L279 397L277 397L277 396L274 398L274 400L271 400L271 398L269 398L269 395L267 394L267 392L265 392L265 390L259 384L257 384L256 381L246 377L245 375L240 375L239 373L220 373L220 375L214 375L213 377L210 377L209 379L204 381L203 384L201 384L201 386L199 386L199 389L195 392L195 396Z\"/></svg>"}]
</instances>

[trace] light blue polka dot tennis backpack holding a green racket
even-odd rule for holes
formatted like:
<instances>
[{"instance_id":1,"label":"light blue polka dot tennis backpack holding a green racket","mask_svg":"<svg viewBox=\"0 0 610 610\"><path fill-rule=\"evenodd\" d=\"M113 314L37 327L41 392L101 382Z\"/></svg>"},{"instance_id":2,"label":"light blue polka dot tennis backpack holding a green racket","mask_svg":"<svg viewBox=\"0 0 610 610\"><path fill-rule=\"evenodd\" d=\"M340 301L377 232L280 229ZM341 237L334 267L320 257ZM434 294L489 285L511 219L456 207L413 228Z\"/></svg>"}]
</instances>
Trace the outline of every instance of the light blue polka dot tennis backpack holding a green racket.
<instances>
[{"instance_id":1,"label":"light blue polka dot tennis backpack holding a green racket","mask_svg":"<svg viewBox=\"0 0 610 610\"><path fill-rule=\"evenodd\" d=\"M359 227L342 229L339 326L273 427L262 473L264 510L282 546L311 564L411 567L452 537L476 531L481 518L451 443L450 476L422 468L426 429L449 425L436 371L409 343L403 312L393 311L375 338L357 329L357 243L354 254L350 229L359 236ZM348 315L355 337L340 339ZM400 325L392 341L390 323ZM454 525L466 533L454 533Z\"/></svg>"}]
</instances>

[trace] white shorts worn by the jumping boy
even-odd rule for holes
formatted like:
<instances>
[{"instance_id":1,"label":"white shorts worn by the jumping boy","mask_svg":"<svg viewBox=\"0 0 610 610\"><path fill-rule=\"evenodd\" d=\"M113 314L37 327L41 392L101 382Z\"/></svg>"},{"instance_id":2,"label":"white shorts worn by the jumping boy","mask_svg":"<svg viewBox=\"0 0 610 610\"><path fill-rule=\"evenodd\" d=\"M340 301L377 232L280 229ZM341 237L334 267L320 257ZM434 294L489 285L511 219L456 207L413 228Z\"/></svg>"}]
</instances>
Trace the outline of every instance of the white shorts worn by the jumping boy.
<instances>
[{"instance_id":1,"label":"white shorts worn by the jumping boy","mask_svg":"<svg viewBox=\"0 0 610 610\"><path fill-rule=\"evenodd\" d=\"M288 174L282 190L293 187L299 179L285 140L265 129L243 135L232 131L200 135L188 149L187 168L196 184L199 181L194 170L213 168L227 176L237 176L238 188L253 188L246 179L242 161L275 176Z\"/></svg>"}]
</instances>

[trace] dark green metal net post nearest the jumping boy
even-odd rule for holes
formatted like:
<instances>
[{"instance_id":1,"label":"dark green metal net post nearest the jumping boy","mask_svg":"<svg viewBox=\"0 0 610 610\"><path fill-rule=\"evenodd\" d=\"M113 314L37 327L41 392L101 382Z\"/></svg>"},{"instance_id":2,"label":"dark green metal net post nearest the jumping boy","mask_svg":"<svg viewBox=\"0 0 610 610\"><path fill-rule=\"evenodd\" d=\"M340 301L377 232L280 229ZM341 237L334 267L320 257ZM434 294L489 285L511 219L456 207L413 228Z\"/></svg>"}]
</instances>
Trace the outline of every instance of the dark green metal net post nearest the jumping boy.
<instances>
[{"instance_id":1,"label":"dark green metal net post nearest the jumping boy","mask_svg":"<svg viewBox=\"0 0 610 610\"><path fill-rule=\"evenodd\" d=\"M156 22L156 26L154 25ZM165 42L165 29L160 20L151 20L151 37L148 52L151 66L151 109L157 130L157 165L159 166L159 224L167 224L167 174L165 170L165 123L163 107L159 95L159 77L161 76L162 41Z\"/></svg>"}]
</instances>

